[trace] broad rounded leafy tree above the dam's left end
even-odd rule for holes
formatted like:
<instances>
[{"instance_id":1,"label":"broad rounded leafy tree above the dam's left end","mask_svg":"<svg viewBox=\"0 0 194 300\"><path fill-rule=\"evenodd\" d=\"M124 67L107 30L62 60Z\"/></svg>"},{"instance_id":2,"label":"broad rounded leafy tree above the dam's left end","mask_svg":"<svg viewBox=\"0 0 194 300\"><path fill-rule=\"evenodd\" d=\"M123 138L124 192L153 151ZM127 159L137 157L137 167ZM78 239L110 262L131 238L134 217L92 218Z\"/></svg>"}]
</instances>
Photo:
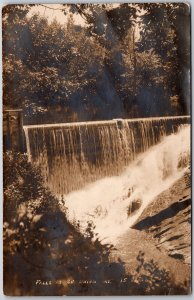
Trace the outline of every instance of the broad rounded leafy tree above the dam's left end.
<instances>
[{"instance_id":1,"label":"broad rounded leafy tree above the dam's left end","mask_svg":"<svg viewBox=\"0 0 194 300\"><path fill-rule=\"evenodd\" d=\"M59 105L68 107L72 98L80 98L95 84L102 69L103 48L95 45L85 29L74 26L72 19L66 28L57 21L48 24L38 15L23 23L28 39L19 31L18 39L24 39L20 51L17 45L13 53L4 46L4 88L8 91L4 103L24 106L29 114ZM10 40L14 34L12 30ZM84 110L84 105L78 106Z\"/></svg>"}]
</instances>

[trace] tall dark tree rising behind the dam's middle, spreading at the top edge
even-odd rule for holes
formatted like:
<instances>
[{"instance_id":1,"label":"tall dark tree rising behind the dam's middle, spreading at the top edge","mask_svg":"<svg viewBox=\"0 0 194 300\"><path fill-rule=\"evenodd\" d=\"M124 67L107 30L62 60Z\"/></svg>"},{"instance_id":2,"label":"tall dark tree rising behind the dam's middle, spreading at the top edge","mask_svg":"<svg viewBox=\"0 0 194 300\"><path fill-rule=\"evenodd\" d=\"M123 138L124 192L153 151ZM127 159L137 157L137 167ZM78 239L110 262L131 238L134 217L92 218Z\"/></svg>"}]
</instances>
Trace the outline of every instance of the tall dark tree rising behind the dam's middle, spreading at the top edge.
<instances>
[{"instance_id":1,"label":"tall dark tree rising behind the dam's middle, spreading at the top edge","mask_svg":"<svg viewBox=\"0 0 194 300\"><path fill-rule=\"evenodd\" d=\"M83 17L89 35L97 44L101 44L106 49L103 81L100 80L101 88L98 88L105 101L107 101L107 95L105 93L103 95L103 91L108 88L111 95L112 103L109 107L105 106L105 109L112 111L110 117L126 117L128 111L126 111L125 102L133 98L133 95L129 88L131 82L126 82L126 72L130 71L126 69L123 50L128 31L135 27L138 6L134 4L119 4L116 7L114 4L76 4L71 5L70 9L73 13Z\"/></svg>"}]
</instances>

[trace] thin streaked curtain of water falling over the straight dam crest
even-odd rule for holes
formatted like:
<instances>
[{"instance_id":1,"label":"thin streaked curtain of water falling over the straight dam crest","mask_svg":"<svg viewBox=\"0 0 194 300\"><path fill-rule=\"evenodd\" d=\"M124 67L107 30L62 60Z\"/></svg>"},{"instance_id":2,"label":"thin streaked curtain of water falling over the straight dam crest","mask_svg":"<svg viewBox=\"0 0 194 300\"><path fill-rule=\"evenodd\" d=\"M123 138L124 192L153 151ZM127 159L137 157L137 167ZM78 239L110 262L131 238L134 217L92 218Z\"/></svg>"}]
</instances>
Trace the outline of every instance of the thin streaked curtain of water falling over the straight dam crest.
<instances>
[{"instance_id":1,"label":"thin streaked curtain of water falling over the straight dam crest","mask_svg":"<svg viewBox=\"0 0 194 300\"><path fill-rule=\"evenodd\" d=\"M29 160L57 196L119 175L188 116L24 126Z\"/></svg>"}]
</instances>

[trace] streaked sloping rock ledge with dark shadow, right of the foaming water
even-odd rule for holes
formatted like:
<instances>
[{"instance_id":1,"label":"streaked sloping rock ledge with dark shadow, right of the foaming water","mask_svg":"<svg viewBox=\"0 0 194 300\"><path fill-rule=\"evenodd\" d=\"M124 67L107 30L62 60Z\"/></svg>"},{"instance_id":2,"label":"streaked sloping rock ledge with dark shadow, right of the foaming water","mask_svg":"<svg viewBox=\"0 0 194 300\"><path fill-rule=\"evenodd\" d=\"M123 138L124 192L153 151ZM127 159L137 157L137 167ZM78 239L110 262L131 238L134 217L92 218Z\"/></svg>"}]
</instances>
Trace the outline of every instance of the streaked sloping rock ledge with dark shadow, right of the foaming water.
<instances>
[{"instance_id":1,"label":"streaked sloping rock ledge with dark shadow, right of the foaming water","mask_svg":"<svg viewBox=\"0 0 194 300\"><path fill-rule=\"evenodd\" d=\"M161 193L133 226L156 240L158 249L191 265L191 181L189 170Z\"/></svg>"}]
</instances>

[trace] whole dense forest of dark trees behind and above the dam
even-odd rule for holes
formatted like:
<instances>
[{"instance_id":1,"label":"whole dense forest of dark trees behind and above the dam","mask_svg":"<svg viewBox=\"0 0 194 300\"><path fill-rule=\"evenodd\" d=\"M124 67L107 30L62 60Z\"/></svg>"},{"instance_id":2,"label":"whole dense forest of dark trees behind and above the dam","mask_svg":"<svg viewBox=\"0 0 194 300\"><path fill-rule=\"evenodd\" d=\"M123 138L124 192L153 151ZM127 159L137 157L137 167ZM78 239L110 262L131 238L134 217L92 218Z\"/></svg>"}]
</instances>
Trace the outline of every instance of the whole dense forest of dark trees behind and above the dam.
<instances>
[{"instance_id":1,"label":"whole dense forest of dark trees behind and above the dam","mask_svg":"<svg viewBox=\"0 0 194 300\"><path fill-rule=\"evenodd\" d=\"M4 107L26 124L189 113L188 4L65 4L65 24L31 7L3 8Z\"/></svg>"}]
</instances>

